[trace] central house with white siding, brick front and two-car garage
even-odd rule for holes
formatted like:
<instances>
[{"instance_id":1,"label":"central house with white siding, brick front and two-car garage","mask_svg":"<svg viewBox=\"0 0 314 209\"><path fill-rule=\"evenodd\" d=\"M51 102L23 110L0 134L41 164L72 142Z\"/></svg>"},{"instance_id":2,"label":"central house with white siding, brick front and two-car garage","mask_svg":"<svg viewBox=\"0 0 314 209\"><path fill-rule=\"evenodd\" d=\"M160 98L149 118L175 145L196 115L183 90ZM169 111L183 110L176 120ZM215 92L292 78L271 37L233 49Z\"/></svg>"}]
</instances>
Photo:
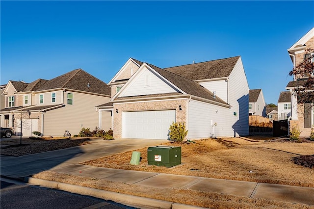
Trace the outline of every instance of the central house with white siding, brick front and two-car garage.
<instances>
[{"instance_id":1,"label":"central house with white siding, brick front and two-car garage","mask_svg":"<svg viewBox=\"0 0 314 209\"><path fill-rule=\"evenodd\" d=\"M248 135L249 87L240 56L158 68L130 58L110 80L115 138L168 139L181 122L189 139Z\"/></svg>"}]
</instances>

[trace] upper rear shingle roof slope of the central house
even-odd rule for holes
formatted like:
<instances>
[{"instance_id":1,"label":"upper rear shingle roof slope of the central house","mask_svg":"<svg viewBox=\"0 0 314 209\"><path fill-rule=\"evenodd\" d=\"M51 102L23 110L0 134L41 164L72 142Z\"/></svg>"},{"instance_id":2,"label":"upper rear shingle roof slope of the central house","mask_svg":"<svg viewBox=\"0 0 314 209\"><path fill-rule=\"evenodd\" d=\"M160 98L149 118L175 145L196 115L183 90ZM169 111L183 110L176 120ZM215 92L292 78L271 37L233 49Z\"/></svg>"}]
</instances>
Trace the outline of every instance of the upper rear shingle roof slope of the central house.
<instances>
[{"instance_id":1,"label":"upper rear shingle roof slope of the central house","mask_svg":"<svg viewBox=\"0 0 314 209\"><path fill-rule=\"evenodd\" d=\"M235 56L164 69L190 80L224 78L230 75L239 58L240 56Z\"/></svg>"}]
</instances>

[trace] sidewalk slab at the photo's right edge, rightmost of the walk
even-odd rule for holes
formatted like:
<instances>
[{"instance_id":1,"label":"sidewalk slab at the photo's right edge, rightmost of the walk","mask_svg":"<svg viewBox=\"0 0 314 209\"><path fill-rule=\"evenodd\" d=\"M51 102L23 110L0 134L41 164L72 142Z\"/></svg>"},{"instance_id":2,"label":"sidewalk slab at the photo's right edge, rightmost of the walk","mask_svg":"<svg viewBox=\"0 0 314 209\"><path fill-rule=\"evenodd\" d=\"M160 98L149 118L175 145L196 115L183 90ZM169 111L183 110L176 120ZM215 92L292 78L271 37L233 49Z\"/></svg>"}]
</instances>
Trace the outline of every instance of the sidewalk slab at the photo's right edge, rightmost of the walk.
<instances>
[{"instance_id":1,"label":"sidewalk slab at the photo's right edge, rightmost of the walk","mask_svg":"<svg viewBox=\"0 0 314 209\"><path fill-rule=\"evenodd\" d=\"M260 183L253 197L314 205L314 188Z\"/></svg>"}]
</instances>

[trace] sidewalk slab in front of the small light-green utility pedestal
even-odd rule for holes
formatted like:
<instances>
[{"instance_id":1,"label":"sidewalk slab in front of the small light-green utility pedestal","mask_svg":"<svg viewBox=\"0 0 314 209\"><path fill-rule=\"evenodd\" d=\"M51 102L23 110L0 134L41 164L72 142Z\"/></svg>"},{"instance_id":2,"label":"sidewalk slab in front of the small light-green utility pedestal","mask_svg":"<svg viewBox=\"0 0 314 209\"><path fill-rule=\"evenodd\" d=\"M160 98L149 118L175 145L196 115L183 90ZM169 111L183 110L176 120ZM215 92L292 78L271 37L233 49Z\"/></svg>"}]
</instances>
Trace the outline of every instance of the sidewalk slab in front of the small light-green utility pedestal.
<instances>
[{"instance_id":1,"label":"sidewalk slab in front of the small light-green utility pedestal","mask_svg":"<svg viewBox=\"0 0 314 209\"><path fill-rule=\"evenodd\" d=\"M114 169L114 174L105 178L107 181L136 184L142 180L156 176L158 173Z\"/></svg>"}]
</instances>

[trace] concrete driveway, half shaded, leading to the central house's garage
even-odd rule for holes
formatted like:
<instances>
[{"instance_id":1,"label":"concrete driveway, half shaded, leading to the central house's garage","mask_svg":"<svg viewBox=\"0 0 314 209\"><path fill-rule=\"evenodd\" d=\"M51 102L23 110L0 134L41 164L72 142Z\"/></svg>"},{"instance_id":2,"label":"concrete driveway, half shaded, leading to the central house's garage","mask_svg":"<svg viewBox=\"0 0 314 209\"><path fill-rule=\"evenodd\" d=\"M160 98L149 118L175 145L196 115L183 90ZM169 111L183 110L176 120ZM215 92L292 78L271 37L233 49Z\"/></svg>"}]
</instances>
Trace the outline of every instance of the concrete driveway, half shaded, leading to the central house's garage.
<instances>
[{"instance_id":1,"label":"concrete driveway, half shaded, leading to the central house's garage","mask_svg":"<svg viewBox=\"0 0 314 209\"><path fill-rule=\"evenodd\" d=\"M78 164L90 159L155 146L167 140L93 139L93 143L20 157L1 156L1 176L23 179L41 171ZM131 159L130 159L131 160Z\"/></svg>"}]
</instances>

